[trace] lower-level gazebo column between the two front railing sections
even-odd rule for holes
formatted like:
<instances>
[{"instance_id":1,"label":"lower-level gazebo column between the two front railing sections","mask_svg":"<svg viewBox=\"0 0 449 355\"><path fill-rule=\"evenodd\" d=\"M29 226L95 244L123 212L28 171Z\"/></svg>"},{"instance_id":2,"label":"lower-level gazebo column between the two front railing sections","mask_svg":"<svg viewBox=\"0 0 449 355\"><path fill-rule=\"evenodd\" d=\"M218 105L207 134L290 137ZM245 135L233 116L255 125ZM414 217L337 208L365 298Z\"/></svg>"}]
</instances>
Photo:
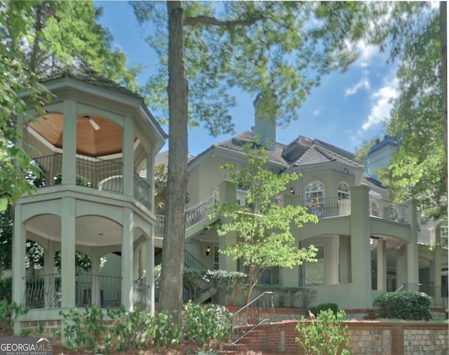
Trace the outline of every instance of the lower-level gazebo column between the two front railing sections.
<instances>
[{"instance_id":1,"label":"lower-level gazebo column between the two front railing sections","mask_svg":"<svg viewBox=\"0 0 449 355\"><path fill-rule=\"evenodd\" d=\"M62 308L75 307L75 210L75 199L63 197L61 211Z\"/></svg>"}]
</instances>

